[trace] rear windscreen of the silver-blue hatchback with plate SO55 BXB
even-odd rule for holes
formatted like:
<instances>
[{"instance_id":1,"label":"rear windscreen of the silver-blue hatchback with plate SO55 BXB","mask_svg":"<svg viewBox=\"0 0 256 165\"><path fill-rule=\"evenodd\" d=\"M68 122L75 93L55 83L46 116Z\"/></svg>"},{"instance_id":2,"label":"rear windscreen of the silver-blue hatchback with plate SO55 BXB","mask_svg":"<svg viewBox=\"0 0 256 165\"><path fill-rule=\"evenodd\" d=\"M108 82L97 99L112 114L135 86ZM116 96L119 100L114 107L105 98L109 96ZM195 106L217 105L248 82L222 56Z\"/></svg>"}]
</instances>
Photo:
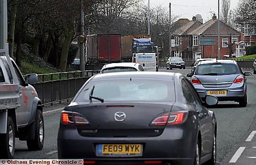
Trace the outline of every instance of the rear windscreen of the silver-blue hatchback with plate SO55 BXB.
<instances>
[{"instance_id":1,"label":"rear windscreen of the silver-blue hatchback with plate SO55 BXB","mask_svg":"<svg viewBox=\"0 0 256 165\"><path fill-rule=\"evenodd\" d=\"M203 64L198 65L195 74L197 75L229 75L240 74L236 64Z\"/></svg>"}]
</instances>

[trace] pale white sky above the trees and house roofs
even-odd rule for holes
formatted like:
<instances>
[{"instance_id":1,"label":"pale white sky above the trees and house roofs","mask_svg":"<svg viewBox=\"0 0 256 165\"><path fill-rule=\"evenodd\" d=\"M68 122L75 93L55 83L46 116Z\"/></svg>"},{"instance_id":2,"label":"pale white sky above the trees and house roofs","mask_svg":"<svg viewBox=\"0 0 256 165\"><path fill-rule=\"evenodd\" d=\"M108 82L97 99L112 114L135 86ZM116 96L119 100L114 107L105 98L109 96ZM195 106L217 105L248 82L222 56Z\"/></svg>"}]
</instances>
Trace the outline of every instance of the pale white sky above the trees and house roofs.
<instances>
[{"instance_id":1,"label":"pale white sky above the trees and house roofs","mask_svg":"<svg viewBox=\"0 0 256 165\"><path fill-rule=\"evenodd\" d=\"M144 0L148 4L148 0ZM187 18L192 20L196 14L200 14L203 18L203 23L210 20L212 13L218 16L218 0L150 0L150 6L163 6L167 10L171 2L172 14L179 15L179 18ZM231 0L231 9L236 8L239 0ZM220 0L221 8L222 0Z\"/></svg>"}]
</instances>

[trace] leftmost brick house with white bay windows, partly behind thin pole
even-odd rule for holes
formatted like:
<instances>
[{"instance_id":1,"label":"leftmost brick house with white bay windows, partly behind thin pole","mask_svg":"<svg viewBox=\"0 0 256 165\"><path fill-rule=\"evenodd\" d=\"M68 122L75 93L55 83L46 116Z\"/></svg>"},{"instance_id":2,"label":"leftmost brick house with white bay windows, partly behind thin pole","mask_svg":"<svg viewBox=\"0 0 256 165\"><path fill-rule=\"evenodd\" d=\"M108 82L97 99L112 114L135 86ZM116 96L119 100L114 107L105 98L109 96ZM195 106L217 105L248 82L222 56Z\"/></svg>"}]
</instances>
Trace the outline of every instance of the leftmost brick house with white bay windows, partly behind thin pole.
<instances>
[{"instance_id":1,"label":"leftmost brick house with white bay windows, partly behind thin pole","mask_svg":"<svg viewBox=\"0 0 256 165\"><path fill-rule=\"evenodd\" d=\"M179 29L176 29L171 33L172 39L175 39L175 46L172 47L172 57L179 56L183 59L192 58L192 49L189 48L189 35L194 29L201 26L202 23L197 21L196 17L192 18L192 21L187 22Z\"/></svg>"}]
</instances>

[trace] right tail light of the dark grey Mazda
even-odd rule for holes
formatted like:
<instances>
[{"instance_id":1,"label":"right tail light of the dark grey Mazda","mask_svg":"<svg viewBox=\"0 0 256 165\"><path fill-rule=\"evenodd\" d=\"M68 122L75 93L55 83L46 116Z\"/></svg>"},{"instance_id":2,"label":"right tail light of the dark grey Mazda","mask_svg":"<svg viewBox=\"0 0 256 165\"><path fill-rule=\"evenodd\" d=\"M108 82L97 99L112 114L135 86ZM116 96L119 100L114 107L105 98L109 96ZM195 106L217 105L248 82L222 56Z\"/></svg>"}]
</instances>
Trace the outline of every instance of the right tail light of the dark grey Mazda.
<instances>
[{"instance_id":1,"label":"right tail light of the dark grey Mazda","mask_svg":"<svg viewBox=\"0 0 256 165\"><path fill-rule=\"evenodd\" d=\"M151 122L151 126L180 124L185 121L187 112L172 112L159 115Z\"/></svg>"}]
</instances>

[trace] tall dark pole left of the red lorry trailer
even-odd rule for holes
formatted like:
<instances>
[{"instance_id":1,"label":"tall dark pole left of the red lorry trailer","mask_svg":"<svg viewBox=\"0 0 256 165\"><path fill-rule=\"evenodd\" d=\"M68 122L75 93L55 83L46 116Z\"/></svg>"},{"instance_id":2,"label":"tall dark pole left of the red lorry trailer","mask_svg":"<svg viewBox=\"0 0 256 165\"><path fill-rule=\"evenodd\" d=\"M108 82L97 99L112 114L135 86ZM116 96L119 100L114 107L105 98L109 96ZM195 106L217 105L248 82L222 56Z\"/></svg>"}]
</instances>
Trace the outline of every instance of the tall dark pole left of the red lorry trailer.
<instances>
[{"instance_id":1,"label":"tall dark pole left of the red lorry trailer","mask_svg":"<svg viewBox=\"0 0 256 165\"><path fill-rule=\"evenodd\" d=\"M79 40L79 53L80 53L80 70L85 71L85 57L84 57L84 4L83 0L80 0L80 36ZM83 72L84 75L84 72Z\"/></svg>"}]
</instances>

